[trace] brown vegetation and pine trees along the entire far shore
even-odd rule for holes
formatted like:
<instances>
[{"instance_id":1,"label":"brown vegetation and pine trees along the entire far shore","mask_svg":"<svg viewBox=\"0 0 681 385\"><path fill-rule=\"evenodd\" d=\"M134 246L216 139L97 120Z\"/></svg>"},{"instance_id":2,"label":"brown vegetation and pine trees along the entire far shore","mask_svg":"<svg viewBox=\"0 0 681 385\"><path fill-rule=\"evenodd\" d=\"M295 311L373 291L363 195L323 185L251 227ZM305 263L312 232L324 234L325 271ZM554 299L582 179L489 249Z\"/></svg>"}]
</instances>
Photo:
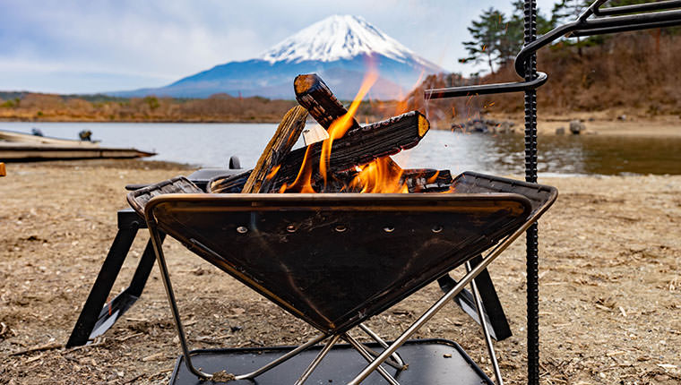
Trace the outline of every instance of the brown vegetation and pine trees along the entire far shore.
<instances>
[{"instance_id":1,"label":"brown vegetation and pine trees along the entire far shore","mask_svg":"<svg viewBox=\"0 0 681 385\"><path fill-rule=\"evenodd\" d=\"M641 3L619 0L608 4ZM404 100L369 100L359 108L360 123L411 109L444 123L473 114L522 111L522 95L495 95L425 103L423 90L499 81L517 81L513 57L522 47L522 1L506 15L494 8L471 21L468 56L488 67L484 75L460 73L428 76ZM573 20L590 1L562 0L549 16L541 14L539 33ZM681 117L681 29L666 28L563 39L539 50L538 69L548 81L538 91L539 107L555 114L572 111L626 110L631 115ZM291 80L292 81L292 80ZM465 99L465 98L464 98ZM104 95L51 95L0 92L0 120L97 122L272 122L296 105L294 100L236 98L217 94L204 99L113 98ZM427 111L425 111L427 109Z\"/></svg>"}]
</instances>

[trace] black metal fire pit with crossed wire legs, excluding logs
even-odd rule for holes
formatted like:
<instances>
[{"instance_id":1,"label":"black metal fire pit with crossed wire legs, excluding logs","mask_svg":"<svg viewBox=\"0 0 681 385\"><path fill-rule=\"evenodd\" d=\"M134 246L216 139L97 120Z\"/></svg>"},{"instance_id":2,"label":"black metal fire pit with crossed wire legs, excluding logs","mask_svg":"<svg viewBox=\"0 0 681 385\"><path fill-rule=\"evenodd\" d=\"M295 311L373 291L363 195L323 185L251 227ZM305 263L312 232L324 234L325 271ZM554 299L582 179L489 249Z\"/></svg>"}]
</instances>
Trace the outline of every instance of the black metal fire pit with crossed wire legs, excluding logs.
<instances>
[{"instance_id":1,"label":"black metal fire pit with crossed wire legs, excluding logs","mask_svg":"<svg viewBox=\"0 0 681 385\"><path fill-rule=\"evenodd\" d=\"M192 364L160 247L161 233L320 330L317 338L274 364L237 380L254 379L329 339L298 379L302 383L342 338L370 362L349 383L359 383L375 370L397 383L381 364L392 357L387 363L403 369L397 349L557 196L553 187L476 173L459 175L452 187L454 193L210 194L177 177L130 193L128 201L147 221L182 359L196 378L211 375ZM361 322L493 247L390 347L384 345L383 353L372 355L349 336L355 327L373 334Z\"/></svg>"}]
</instances>

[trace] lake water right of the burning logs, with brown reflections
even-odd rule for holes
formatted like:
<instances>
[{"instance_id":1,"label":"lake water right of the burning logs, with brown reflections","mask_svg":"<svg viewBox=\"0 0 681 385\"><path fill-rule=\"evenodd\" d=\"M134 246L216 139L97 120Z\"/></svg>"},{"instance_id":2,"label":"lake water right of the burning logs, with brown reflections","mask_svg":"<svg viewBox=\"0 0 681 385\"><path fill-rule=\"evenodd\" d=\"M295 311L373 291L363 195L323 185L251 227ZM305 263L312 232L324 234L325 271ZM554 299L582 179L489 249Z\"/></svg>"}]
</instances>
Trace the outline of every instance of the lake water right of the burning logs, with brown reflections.
<instances>
[{"instance_id":1,"label":"lake water right of the burning logs, with brown reflections","mask_svg":"<svg viewBox=\"0 0 681 385\"><path fill-rule=\"evenodd\" d=\"M681 139L599 135L539 138L539 173L545 175L681 174ZM409 166L524 174L524 141L513 134L435 131L399 155Z\"/></svg>"}]
</instances>

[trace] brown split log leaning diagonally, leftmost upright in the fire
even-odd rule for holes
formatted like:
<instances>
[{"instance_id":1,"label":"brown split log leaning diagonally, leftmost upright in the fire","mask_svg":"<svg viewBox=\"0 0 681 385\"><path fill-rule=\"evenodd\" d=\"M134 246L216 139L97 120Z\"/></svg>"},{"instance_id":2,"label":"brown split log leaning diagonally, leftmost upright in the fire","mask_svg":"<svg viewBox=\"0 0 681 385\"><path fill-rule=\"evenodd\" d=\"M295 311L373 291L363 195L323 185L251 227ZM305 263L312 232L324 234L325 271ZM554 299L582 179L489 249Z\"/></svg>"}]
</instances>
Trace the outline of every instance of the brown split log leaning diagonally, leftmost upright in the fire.
<instances>
[{"instance_id":1,"label":"brown split log leaning diagonally, leftmost upright in the fire","mask_svg":"<svg viewBox=\"0 0 681 385\"><path fill-rule=\"evenodd\" d=\"M248 175L241 193L261 193L270 190L269 182L272 181L270 174L276 173L282 161L289 155L300 133L303 132L306 118L307 111L300 106L293 107L286 113L255 168Z\"/></svg>"}]
</instances>

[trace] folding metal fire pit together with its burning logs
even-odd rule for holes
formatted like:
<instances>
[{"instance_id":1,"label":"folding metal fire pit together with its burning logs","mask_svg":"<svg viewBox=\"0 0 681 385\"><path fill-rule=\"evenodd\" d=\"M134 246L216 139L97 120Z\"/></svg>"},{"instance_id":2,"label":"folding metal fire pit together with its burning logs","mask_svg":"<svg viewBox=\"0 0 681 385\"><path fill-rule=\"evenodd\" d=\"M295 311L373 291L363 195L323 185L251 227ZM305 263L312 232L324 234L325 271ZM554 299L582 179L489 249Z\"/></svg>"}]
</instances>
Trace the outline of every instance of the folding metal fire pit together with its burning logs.
<instances>
[{"instance_id":1,"label":"folding metal fire pit together with its burning logs","mask_svg":"<svg viewBox=\"0 0 681 385\"><path fill-rule=\"evenodd\" d=\"M174 381L257 378L260 383L270 375L272 383L281 383L291 371L272 377L275 366L289 359L300 366L298 355L326 340L312 364L301 367L297 381L291 377L303 383L342 338L368 366L354 378L347 377L351 372L322 371L315 373L322 376L317 380L358 384L367 377L382 380L380 375L396 384L395 375L403 379L419 372L407 369L408 364L418 366L418 360L405 364L398 349L418 356L409 350L413 343L401 348L407 339L556 200L556 189L540 184L472 172L452 178L447 171L403 170L389 155L418 143L429 127L425 116L413 112L362 127L352 118L353 107L345 110L315 75L299 76L295 87L305 108L289 111L253 170L214 178L207 186L210 193L177 177L128 194L149 227L177 325L183 356ZM302 132L306 111L328 128L329 139L290 151ZM358 193L366 191L379 193ZM161 248L162 234L176 238L320 334L260 369L247 367L246 374L223 377L226 372L220 370L238 367L234 357L242 355L222 352L229 364L216 366L220 352L190 352ZM471 266L472 259L490 249ZM469 273L391 345L362 323L463 264ZM477 292L476 303L481 306ZM349 335L354 328L365 330L378 345L358 343ZM455 344L431 345L428 348L453 348L460 362L470 367L465 364L470 359ZM383 347L383 352L376 353L376 347ZM204 370L197 369L194 358ZM396 372L388 372L384 363ZM488 381L479 370L473 372L476 381Z\"/></svg>"}]
</instances>

